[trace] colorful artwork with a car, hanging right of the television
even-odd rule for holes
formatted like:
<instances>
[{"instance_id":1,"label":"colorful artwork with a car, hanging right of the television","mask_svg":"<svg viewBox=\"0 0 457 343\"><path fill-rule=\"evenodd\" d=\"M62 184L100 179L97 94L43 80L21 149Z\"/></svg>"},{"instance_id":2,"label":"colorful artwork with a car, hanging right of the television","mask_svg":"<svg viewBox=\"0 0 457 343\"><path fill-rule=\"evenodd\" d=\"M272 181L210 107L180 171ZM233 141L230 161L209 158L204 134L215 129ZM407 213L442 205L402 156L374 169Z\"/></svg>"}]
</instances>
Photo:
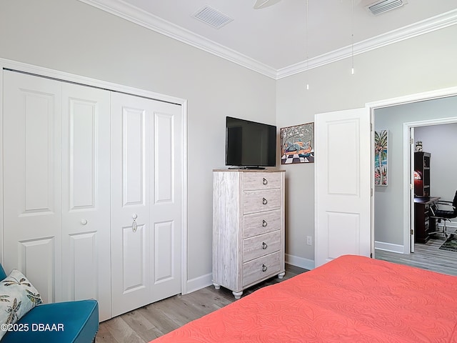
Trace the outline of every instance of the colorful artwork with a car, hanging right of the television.
<instances>
[{"instance_id":1,"label":"colorful artwork with a car, hanging right of the television","mask_svg":"<svg viewBox=\"0 0 457 343\"><path fill-rule=\"evenodd\" d=\"M314 162L314 123L281 128L281 164Z\"/></svg>"}]
</instances>

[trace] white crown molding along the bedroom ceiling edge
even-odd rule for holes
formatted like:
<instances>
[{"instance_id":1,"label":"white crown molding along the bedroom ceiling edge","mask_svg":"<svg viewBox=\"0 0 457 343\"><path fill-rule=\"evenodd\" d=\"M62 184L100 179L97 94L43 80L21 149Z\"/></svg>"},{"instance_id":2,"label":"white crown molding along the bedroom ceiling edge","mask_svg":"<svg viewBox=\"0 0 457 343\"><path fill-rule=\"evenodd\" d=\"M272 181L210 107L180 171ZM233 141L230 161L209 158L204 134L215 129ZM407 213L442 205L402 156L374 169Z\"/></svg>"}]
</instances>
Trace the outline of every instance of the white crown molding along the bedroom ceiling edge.
<instances>
[{"instance_id":1,"label":"white crown molding along the bedroom ceiling edge","mask_svg":"<svg viewBox=\"0 0 457 343\"><path fill-rule=\"evenodd\" d=\"M363 54L373 49L381 48L389 44L394 44L398 41L410 39L421 34L426 34L431 31L443 29L447 26L457 24L457 9L448 11L438 16L433 16L429 19L418 21L415 24L404 26L401 29L390 31L386 34L360 41L353 46L345 46L341 49L331 51L321 56L316 56L308 61L301 61L291 66L286 66L281 69L274 69L272 66L261 63L249 56L240 54L238 51L229 49L226 46L206 39L204 36L194 34L189 30L183 29L181 26L172 24L169 21L154 16L142 9L126 4L121 0L79 0L84 4L94 6L103 11L119 16L146 29L151 29L159 34L164 34L172 39L176 39L190 46L194 46L203 51L214 54L223 59L236 63L240 66L246 67L260 74L270 77L271 79L282 79L287 76L301 73L308 69L317 68L326 64L347 59L354 55Z\"/></svg>"}]
</instances>

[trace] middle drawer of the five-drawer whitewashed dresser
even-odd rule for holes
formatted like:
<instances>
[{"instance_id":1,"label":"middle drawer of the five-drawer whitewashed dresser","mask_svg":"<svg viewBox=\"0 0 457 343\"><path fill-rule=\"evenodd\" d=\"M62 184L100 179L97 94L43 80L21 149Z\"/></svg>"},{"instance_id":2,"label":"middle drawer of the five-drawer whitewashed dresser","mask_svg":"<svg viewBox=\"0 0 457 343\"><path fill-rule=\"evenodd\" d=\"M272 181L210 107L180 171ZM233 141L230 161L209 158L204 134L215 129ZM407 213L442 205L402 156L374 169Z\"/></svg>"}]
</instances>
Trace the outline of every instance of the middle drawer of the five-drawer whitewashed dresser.
<instances>
[{"instance_id":1,"label":"middle drawer of the five-drawer whitewashed dresser","mask_svg":"<svg viewBox=\"0 0 457 343\"><path fill-rule=\"evenodd\" d=\"M243 238L281 229L281 210L247 214L243 217Z\"/></svg>"}]
</instances>

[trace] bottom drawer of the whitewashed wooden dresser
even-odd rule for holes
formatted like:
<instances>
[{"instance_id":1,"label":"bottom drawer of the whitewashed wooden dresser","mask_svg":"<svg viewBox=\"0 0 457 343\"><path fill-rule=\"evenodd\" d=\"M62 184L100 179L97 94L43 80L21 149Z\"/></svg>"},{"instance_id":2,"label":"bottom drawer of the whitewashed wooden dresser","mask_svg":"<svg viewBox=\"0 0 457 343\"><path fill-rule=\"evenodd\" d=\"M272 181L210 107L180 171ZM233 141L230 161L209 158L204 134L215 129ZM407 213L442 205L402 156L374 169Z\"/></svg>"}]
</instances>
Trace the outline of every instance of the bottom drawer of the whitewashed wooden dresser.
<instances>
[{"instance_id":1,"label":"bottom drawer of the whitewashed wooden dresser","mask_svg":"<svg viewBox=\"0 0 457 343\"><path fill-rule=\"evenodd\" d=\"M274 252L243 264L243 287L266 279L281 270L281 252Z\"/></svg>"}]
</instances>

